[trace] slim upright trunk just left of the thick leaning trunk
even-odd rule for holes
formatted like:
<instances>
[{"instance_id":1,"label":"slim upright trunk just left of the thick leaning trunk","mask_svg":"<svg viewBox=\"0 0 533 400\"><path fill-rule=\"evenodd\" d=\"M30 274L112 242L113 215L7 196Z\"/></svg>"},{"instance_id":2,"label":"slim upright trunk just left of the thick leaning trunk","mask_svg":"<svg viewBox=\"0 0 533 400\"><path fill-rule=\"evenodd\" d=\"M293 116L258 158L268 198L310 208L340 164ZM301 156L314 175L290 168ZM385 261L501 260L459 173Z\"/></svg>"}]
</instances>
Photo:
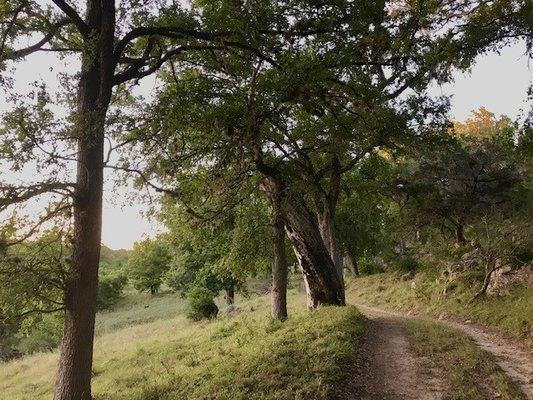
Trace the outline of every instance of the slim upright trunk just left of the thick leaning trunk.
<instances>
[{"instance_id":1,"label":"slim upright trunk just left of the thick leaning trunk","mask_svg":"<svg viewBox=\"0 0 533 400\"><path fill-rule=\"evenodd\" d=\"M271 310L272 318L284 321L287 313L287 279L288 266L285 253L285 226L278 198L273 202L274 212L274 264L272 265L272 293Z\"/></svg>"}]
</instances>

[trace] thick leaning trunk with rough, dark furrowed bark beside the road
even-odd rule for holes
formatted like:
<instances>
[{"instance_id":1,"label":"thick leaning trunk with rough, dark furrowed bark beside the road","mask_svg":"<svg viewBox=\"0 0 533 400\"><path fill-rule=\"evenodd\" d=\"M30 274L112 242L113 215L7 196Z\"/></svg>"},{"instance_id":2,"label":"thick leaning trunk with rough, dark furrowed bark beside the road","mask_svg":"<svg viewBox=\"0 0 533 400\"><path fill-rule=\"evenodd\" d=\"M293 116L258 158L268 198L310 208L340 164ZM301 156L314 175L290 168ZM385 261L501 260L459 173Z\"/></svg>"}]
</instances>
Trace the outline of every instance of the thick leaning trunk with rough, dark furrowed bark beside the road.
<instances>
[{"instance_id":1,"label":"thick leaning trunk with rough, dark furrowed bark beside the road","mask_svg":"<svg viewBox=\"0 0 533 400\"><path fill-rule=\"evenodd\" d=\"M307 288L307 305L314 309L321 304L344 305L344 288L329 251L320 235L315 215L303 199L284 190L273 178L263 180L263 188L273 203L281 193L280 207L285 231L302 269Z\"/></svg>"}]
</instances>

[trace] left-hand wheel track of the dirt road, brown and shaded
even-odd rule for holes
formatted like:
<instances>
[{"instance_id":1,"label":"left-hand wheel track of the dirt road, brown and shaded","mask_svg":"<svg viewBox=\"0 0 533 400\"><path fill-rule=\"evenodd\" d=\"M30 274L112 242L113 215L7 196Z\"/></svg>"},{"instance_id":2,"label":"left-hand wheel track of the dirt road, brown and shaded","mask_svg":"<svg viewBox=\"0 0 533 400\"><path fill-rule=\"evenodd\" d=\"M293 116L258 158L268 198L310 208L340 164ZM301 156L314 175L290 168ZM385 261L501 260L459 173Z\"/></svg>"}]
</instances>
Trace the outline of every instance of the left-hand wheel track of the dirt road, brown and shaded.
<instances>
[{"instance_id":1,"label":"left-hand wheel track of the dirt road, brown and shaded","mask_svg":"<svg viewBox=\"0 0 533 400\"><path fill-rule=\"evenodd\" d=\"M360 359L339 399L442 399L444 382L432 371L420 368L420 360L410 349L402 319L365 314L368 325Z\"/></svg>"}]
</instances>

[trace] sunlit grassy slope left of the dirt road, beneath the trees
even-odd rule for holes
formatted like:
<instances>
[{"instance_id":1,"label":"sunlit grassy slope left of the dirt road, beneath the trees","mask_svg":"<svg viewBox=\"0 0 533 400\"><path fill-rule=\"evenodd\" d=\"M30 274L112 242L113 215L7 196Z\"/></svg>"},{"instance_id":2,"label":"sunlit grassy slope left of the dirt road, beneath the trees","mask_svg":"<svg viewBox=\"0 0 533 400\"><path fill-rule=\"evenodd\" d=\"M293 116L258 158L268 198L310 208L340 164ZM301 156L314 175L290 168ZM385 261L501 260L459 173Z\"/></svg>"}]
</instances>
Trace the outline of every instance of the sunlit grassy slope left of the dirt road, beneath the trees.
<instances>
[{"instance_id":1,"label":"sunlit grassy slope left of the dirt road, beneath the trees","mask_svg":"<svg viewBox=\"0 0 533 400\"><path fill-rule=\"evenodd\" d=\"M176 300L154 301L163 299ZM160 314L143 315L142 301L123 304L131 306L129 319L118 314L100 319L104 333L95 343L95 400L331 398L356 356L363 316L354 307L308 313L304 296L295 290L289 295L291 318L284 323L268 317L268 297L239 303L239 315L213 322L172 317L163 310L173 306L162 304L155 307ZM105 333L106 327L155 314L168 318ZM57 354L47 353L2 365L0 399L49 399L56 364Z\"/></svg>"}]
</instances>

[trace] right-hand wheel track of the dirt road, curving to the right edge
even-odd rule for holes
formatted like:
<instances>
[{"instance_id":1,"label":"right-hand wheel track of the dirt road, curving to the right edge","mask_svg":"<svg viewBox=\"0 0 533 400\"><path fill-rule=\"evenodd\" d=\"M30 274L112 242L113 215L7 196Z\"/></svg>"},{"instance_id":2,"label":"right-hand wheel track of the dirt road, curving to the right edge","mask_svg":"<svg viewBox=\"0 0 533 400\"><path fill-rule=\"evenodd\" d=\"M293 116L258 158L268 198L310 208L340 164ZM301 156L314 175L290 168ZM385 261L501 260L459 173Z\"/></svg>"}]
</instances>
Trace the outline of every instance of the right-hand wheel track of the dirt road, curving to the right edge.
<instances>
[{"instance_id":1,"label":"right-hand wheel track of the dirt road, curving to the right edge","mask_svg":"<svg viewBox=\"0 0 533 400\"><path fill-rule=\"evenodd\" d=\"M361 312L370 316L372 318L371 320L374 321L376 320L376 316L380 316L379 318L384 320L395 320L400 317L406 317L405 314L369 307L363 304L355 304L355 306ZM425 316L423 318L432 319ZM465 332L479 347L487 353L492 354L494 360L502 370L520 386L529 400L533 400L533 354L529 349L476 325L450 320L439 320L439 322ZM394 397L390 398L394 399ZM427 397L427 399L432 398ZM389 399L389 397L384 397L384 399Z\"/></svg>"}]
</instances>

